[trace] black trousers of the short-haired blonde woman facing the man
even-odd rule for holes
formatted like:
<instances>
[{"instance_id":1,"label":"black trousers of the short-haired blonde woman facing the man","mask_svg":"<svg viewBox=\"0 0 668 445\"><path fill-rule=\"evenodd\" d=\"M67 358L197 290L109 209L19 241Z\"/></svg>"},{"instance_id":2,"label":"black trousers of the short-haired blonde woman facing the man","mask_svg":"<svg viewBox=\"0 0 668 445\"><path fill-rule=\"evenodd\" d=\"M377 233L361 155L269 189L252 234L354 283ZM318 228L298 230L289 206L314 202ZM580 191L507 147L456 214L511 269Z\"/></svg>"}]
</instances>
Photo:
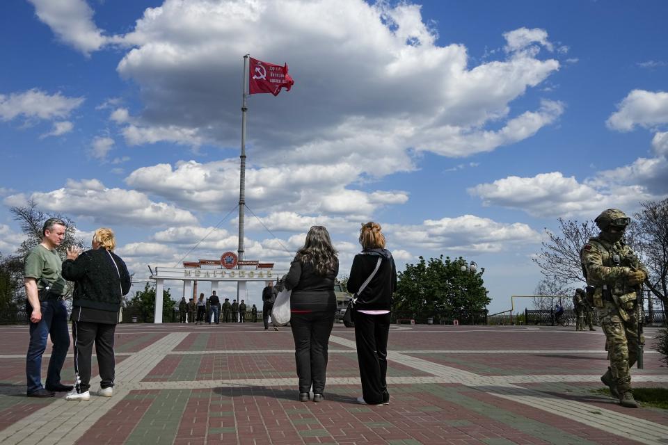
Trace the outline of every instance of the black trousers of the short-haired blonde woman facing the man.
<instances>
[{"instance_id":1,"label":"black trousers of the short-haired blonde woman facing the man","mask_svg":"<svg viewBox=\"0 0 668 445\"><path fill-rule=\"evenodd\" d=\"M72 340L74 341L74 372L77 373L79 392L86 392L90 387L90 362L93 357L93 343L97 353L97 366L100 370L100 387L113 387L115 360L113 357L113 333L116 325L72 321Z\"/></svg>"}]
</instances>

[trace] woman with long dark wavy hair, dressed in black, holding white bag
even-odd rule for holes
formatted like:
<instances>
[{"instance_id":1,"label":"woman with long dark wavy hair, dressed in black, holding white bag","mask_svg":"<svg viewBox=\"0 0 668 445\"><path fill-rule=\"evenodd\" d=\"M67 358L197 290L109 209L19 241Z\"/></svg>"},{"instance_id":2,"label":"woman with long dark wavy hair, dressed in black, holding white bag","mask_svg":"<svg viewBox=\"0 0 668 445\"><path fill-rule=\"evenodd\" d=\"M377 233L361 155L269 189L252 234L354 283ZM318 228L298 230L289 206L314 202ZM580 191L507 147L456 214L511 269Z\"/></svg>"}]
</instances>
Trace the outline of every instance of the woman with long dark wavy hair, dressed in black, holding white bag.
<instances>
[{"instance_id":1,"label":"woman with long dark wavy hair, dressed in black, holding white bag","mask_svg":"<svg viewBox=\"0 0 668 445\"><path fill-rule=\"evenodd\" d=\"M299 400L321 402L327 371L329 335L334 327L336 296L334 280L339 260L325 227L315 225L306 235L287 276L290 296L290 327L294 337L294 358L299 377Z\"/></svg>"}]
</instances>

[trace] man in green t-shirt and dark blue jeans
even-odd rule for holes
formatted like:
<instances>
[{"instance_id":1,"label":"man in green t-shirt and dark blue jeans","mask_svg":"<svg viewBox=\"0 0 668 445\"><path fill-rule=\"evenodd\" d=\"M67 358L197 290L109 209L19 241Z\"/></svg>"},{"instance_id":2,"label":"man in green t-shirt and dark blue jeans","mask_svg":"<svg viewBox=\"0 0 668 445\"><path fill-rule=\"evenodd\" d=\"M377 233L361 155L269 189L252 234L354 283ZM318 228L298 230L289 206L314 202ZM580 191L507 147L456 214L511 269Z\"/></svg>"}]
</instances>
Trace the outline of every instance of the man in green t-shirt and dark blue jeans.
<instances>
[{"instance_id":1,"label":"man in green t-shirt and dark blue jeans","mask_svg":"<svg viewBox=\"0 0 668 445\"><path fill-rule=\"evenodd\" d=\"M61 383L61 369L70 348L70 334L67 332L67 307L63 301L63 261L56 248L65 239L65 223L58 218L49 218L42 227L42 234L42 243L26 255L23 273L28 300L26 309L30 312L30 344L26 355L29 397L53 397L56 391L72 391L73 388ZM49 334L54 347L46 385L42 387L42 354Z\"/></svg>"}]
</instances>

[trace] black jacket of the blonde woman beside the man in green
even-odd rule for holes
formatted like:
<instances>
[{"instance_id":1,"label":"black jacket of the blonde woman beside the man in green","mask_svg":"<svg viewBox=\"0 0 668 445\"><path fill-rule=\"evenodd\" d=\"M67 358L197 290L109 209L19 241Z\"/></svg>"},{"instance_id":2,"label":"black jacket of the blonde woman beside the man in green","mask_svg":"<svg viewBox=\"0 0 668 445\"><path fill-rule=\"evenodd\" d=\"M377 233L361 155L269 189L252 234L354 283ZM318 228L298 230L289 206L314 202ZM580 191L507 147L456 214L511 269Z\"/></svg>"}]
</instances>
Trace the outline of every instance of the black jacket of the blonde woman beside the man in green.
<instances>
[{"instance_id":1,"label":"black jacket of the blonde woman beside the man in green","mask_svg":"<svg viewBox=\"0 0 668 445\"><path fill-rule=\"evenodd\" d=\"M105 248L86 250L77 259L66 259L63 278L74 282L73 307L112 312L118 312L121 298L132 284L125 262Z\"/></svg>"}]
</instances>

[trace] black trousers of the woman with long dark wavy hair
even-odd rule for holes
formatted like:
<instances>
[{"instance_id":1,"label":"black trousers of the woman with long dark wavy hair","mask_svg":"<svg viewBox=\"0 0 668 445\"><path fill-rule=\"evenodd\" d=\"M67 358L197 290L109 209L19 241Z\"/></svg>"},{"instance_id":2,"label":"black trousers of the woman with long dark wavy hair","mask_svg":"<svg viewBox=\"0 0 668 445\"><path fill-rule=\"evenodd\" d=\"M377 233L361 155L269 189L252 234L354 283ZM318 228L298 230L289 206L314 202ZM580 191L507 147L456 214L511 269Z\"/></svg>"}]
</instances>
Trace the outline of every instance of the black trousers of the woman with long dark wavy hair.
<instances>
[{"instance_id":1,"label":"black trousers of the woman with long dark wavy hair","mask_svg":"<svg viewBox=\"0 0 668 445\"><path fill-rule=\"evenodd\" d=\"M299 377L299 392L323 394L327 372L327 348L334 327L334 312L291 314L294 360Z\"/></svg>"}]
</instances>

